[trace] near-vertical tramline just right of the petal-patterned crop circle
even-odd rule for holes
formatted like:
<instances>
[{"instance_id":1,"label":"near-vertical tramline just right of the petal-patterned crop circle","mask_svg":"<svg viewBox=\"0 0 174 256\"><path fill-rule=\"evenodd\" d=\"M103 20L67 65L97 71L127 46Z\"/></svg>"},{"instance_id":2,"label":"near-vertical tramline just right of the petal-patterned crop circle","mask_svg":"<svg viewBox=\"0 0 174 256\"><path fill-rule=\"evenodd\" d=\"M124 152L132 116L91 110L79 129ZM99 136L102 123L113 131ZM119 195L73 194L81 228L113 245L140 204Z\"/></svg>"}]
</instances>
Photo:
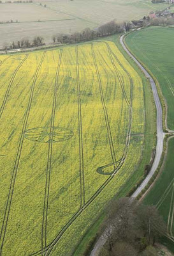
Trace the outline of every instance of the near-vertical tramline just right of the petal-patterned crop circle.
<instances>
[{"instance_id":1,"label":"near-vertical tramline just right of the petal-patterned crop circle","mask_svg":"<svg viewBox=\"0 0 174 256\"><path fill-rule=\"evenodd\" d=\"M78 45L75 48L76 52L76 88L78 98L78 138L79 138L79 157L80 157L80 193L81 202L80 209L85 205L85 178L84 178L84 164L83 164L83 129L82 129L82 109L80 99L80 76L79 76L79 65L78 65Z\"/></svg>"}]
</instances>

